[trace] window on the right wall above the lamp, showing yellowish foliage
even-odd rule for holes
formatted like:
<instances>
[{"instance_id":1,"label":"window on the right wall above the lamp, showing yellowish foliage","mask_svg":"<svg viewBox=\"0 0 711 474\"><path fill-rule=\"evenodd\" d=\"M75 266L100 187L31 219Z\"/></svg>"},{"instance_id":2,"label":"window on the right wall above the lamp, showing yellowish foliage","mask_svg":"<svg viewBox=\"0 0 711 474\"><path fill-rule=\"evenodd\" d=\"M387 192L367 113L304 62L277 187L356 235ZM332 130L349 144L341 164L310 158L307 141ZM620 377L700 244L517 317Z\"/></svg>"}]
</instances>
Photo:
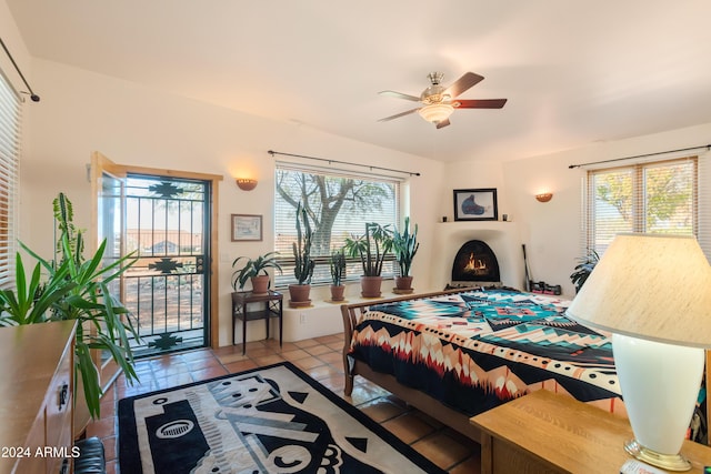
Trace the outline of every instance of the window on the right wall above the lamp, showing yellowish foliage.
<instances>
[{"instance_id":1,"label":"window on the right wall above the lamp, showing yellowish foliage","mask_svg":"<svg viewBox=\"0 0 711 474\"><path fill-rule=\"evenodd\" d=\"M699 161L590 170L585 246L602 254L620 232L699 236Z\"/></svg>"}]
</instances>

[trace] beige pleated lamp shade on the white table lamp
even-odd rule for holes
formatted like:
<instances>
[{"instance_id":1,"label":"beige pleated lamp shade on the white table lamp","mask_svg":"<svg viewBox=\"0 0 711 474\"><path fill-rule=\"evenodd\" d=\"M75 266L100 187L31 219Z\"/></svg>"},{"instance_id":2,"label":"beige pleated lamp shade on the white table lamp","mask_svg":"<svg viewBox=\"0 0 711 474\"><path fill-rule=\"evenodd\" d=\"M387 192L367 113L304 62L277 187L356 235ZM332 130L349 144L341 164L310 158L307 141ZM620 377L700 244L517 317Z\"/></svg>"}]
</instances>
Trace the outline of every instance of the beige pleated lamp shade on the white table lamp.
<instances>
[{"instance_id":1,"label":"beige pleated lamp shade on the white table lamp","mask_svg":"<svg viewBox=\"0 0 711 474\"><path fill-rule=\"evenodd\" d=\"M711 346L711 266L692 236L620 234L567 315L657 342Z\"/></svg>"}]
</instances>

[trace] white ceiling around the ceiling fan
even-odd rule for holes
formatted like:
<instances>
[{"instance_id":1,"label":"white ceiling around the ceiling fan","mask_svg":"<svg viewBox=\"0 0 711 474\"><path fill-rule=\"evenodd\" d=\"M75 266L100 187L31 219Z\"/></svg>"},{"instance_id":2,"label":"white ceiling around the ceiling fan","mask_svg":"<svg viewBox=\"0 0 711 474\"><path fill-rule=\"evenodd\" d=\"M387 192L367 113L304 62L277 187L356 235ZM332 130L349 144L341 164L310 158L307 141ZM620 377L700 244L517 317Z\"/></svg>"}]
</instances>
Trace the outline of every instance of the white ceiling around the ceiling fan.
<instances>
[{"instance_id":1,"label":"white ceiling around the ceiling fan","mask_svg":"<svg viewBox=\"0 0 711 474\"><path fill-rule=\"evenodd\" d=\"M711 122L708 0L7 2L33 57L441 161ZM509 101L378 122L414 104L379 91L419 95L430 71Z\"/></svg>"}]
</instances>

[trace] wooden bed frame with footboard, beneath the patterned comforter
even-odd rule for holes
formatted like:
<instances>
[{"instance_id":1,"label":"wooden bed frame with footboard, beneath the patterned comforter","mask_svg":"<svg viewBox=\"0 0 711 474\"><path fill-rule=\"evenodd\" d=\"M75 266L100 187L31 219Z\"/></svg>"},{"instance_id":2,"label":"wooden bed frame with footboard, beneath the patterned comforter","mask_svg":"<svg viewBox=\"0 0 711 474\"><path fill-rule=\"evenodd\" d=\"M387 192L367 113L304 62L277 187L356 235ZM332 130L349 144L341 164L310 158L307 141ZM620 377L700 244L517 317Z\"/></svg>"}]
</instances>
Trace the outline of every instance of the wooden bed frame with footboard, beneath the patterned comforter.
<instances>
[{"instance_id":1,"label":"wooden bed frame with footboard, beneath the patterned comforter","mask_svg":"<svg viewBox=\"0 0 711 474\"><path fill-rule=\"evenodd\" d=\"M346 387L343 389L343 392L346 396L351 395L351 393L353 392L353 379L356 377L356 375L360 375L363 379L367 379L374 384L385 389L409 405L414 406L419 411L432 416L433 418L442 422L444 425L457 430L459 433L481 444L481 431L469 422L469 416L467 416L465 414L448 407L447 405L442 404L442 402L429 396L424 392L402 385L393 375L373 371L368 364L361 361L351 359L351 362L349 362L348 357L351 340L353 339L353 331L356 325L358 324L358 320L362 314L369 311L370 306L374 304L392 303L398 301L422 300L432 296L457 294L472 290L472 288L455 289L384 300L372 300L353 304L342 304L341 315L343 316L343 372L346 373ZM705 376L707 381L710 381L711 351L707 351L705 359ZM709 393L710 392L707 391L707 423L711 423L711 400L709 400ZM708 444L711 445L711 435L709 436Z\"/></svg>"}]
</instances>

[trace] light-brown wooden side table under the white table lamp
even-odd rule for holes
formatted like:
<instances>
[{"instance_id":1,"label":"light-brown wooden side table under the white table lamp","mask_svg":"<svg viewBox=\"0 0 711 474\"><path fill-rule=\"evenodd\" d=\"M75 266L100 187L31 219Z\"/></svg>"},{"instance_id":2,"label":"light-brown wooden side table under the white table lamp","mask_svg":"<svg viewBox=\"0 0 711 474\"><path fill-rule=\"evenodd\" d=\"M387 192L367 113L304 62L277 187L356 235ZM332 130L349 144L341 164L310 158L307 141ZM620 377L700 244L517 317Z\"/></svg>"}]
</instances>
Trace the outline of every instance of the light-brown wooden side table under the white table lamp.
<instances>
[{"instance_id":1,"label":"light-brown wooden side table under the white table lamp","mask_svg":"<svg viewBox=\"0 0 711 474\"><path fill-rule=\"evenodd\" d=\"M470 420L481 428L481 472L619 473L631 456L628 420L568 395L539 390ZM711 465L711 447L685 441L687 473Z\"/></svg>"}]
</instances>

